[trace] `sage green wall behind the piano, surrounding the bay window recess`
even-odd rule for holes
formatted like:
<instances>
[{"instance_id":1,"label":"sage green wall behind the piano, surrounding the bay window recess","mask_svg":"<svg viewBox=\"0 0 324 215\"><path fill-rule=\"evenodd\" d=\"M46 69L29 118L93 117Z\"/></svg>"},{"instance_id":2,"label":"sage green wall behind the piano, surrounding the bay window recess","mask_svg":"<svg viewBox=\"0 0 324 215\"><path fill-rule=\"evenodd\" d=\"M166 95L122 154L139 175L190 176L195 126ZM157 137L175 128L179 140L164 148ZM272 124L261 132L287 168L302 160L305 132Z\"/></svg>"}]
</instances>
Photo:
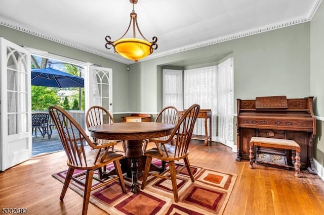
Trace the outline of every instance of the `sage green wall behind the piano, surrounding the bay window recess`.
<instances>
[{"instance_id":1,"label":"sage green wall behind the piano, surrounding the bay window recess","mask_svg":"<svg viewBox=\"0 0 324 215\"><path fill-rule=\"evenodd\" d=\"M310 95L310 23L280 28L227 42L196 48L130 65L130 108L158 112L161 65L232 52L234 57L234 102L236 98ZM206 62L205 62L206 63ZM185 107L186 108L186 107ZM236 108L234 108L236 113Z\"/></svg>"}]
</instances>

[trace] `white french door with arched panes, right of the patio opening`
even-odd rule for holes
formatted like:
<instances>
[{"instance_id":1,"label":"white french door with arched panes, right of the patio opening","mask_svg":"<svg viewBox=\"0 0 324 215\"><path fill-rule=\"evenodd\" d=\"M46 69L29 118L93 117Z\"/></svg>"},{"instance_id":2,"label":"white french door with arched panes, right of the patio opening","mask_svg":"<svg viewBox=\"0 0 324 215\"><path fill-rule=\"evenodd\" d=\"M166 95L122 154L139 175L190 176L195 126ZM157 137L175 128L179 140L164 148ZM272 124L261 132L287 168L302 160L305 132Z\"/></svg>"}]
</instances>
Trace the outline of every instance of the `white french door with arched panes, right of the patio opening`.
<instances>
[{"instance_id":1,"label":"white french door with arched panes, right of the patio opening","mask_svg":"<svg viewBox=\"0 0 324 215\"><path fill-rule=\"evenodd\" d=\"M112 114L112 69L89 66L89 104L102 106Z\"/></svg>"}]
</instances>

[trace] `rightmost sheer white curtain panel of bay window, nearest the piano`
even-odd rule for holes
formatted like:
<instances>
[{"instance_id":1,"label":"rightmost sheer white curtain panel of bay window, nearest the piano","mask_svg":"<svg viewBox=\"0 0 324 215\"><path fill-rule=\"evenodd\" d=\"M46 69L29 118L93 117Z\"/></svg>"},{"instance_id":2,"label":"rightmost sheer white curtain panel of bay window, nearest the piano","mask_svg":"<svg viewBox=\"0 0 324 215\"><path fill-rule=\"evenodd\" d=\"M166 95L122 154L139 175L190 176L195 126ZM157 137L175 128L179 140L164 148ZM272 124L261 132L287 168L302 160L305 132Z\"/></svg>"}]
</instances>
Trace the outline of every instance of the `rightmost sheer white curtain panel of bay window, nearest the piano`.
<instances>
[{"instance_id":1,"label":"rightmost sheer white curtain panel of bay window, nearest the piano","mask_svg":"<svg viewBox=\"0 0 324 215\"><path fill-rule=\"evenodd\" d=\"M233 58L218 65L218 141L233 145Z\"/></svg>"}]
</instances>

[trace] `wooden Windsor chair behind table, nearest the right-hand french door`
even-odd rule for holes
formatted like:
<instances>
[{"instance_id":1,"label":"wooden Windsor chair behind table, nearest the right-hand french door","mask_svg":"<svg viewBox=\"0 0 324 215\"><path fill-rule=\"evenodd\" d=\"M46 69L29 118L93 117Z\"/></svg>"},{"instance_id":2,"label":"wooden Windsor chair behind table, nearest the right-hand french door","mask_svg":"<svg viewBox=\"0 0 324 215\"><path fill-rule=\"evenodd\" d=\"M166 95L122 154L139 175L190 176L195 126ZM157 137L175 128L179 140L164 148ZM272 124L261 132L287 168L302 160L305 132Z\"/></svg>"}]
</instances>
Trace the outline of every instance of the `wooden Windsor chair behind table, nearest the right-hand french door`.
<instances>
[{"instance_id":1,"label":"wooden Windsor chair behind table, nearest the right-hand french door","mask_svg":"<svg viewBox=\"0 0 324 215\"><path fill-rule=\"evenodd\" d=\"M114 123L114 119L111 114L102 106L92 106L86 114L86 124L89 129L91 126L102 125L102 124L110 124ZM110 144L109 148L114 150L114 145L119 142L123 144L123 152L126 153L126 143L121 140L105 140L94 138L94 142L96 144ZM117 150L119 151L119 150Z\"/></svg>"}]
</instances>

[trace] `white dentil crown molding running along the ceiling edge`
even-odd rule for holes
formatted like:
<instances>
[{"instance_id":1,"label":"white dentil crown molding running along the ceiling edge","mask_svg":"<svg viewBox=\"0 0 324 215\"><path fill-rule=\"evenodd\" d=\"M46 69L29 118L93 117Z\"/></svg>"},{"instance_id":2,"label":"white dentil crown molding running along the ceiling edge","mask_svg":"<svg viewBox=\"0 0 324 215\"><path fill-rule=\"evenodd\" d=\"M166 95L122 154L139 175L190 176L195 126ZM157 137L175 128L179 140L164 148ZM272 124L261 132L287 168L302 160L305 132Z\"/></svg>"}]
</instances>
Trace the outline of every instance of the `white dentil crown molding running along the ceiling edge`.
<instances>
[{"instance_id":1,"label":"white dentil crown molding running along the ceiling edge","mask_svg":"<svg viewBox=\"0 0 324 215\"><path fill-rule=\"evenodd\" d=\"M164 56L168 56L168 55L173 55L175 53L180 53L180 52L188 51L188 50L195 49L195 48L200 48L200 47L204 47L204 46L208 46L208 45L226 42L226 41L233 40L233 39L251 36L254 34L258 34L258 33L272 31L272 30L279 29L279 28L284 28L284 27L289 27L289 26L296 25L296 24L309 22L312 20L314 14L316 13L321 2L322 2L322 0L317 0L316 3L314 4L312 10L310 11L309 15L305 18L299 18L296 20L290 20L290 21L285 21L285 22L281 22L281 23L271 24L271 25L260 27L260 28L254 28L254 29L250 29L247 31L229 34L229 35L214 38L211 40L201 41L198 43L194 43L194 44L187 45L187 46L182 46L180 48L175 48L175 49L160 52L160 53L153 53L152 55L146 57L145 59L141 60L140 62L148 61L151 59L156 59L156 58L160 58L160 57L164 57ZM51 40L51 41L54 41L54 42L57 42L57 43L60 43L60 44L66 45L66 46L70 46L70 47L73 47L73 48L76 48L79 50L93 53L94 55L97 55L97 56L100 56L103 58L107 58L112 61L116 61L116 62L127 64L127 65L134 64L133 61L130 61L127 59L121 59L121 58L118 58L116 55L109 55L107 53L103 53L103 52L95 50L95 49L84 47L83 45L79 45L79 44L73 43L71 41L64 40L64 39L58 38L56 36L53 36L53 35L50 35L50 34L47 34L47 33L41 32L41 31L28 28L27 26L23 26L22 24L15 23L12 20L8 21L8 20L4 19L3 17L0 17L0 25L6 26L9 28L13 28L15 30L22 31L22 32L25 32L25 33L28 33L28 34L31 34L34 36L42 37L44 39L48 39L48 40Z\"/></svg>"}]
</instances>

